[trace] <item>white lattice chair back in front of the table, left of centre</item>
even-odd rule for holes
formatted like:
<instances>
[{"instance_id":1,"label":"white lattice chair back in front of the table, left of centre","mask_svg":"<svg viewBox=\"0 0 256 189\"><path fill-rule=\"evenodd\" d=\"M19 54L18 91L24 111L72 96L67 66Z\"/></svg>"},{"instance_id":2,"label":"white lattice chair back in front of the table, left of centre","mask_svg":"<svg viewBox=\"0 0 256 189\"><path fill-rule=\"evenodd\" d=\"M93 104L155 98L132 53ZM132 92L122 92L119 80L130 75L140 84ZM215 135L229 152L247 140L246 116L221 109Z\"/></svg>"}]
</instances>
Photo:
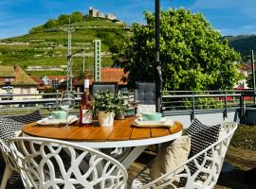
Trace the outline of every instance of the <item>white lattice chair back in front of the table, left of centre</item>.
<instances>
[{"instance_id":1,"label":"white lattice chair back in front of the table, left of centre","mask_svg":"<svg viewBox=\"0 0 256 189\"><path fill-rule=\"evenodd\" d=\"M9 139L9 145L22 179L32 188L126 188L126 169L100 151L31 137Z\"/></svg>"}]
</instances>

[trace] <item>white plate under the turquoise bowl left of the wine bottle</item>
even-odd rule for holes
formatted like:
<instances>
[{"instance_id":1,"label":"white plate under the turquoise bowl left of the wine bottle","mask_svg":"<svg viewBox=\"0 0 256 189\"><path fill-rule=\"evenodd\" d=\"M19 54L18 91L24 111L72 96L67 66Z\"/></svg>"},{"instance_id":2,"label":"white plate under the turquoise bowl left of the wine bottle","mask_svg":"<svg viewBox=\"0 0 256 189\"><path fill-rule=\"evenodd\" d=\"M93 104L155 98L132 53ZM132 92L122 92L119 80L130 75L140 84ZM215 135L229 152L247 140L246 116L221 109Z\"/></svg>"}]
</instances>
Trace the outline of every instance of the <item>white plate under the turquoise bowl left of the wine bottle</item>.
<instances>
[{"instance_id":1,"label":"white plate under the turquoise bowl left of the wine bottle","mask_svg":"<svg viewBox=\"0 0 256 189\"><path fill-rule=\"evenodd\" d=\"M77 120L78 120L77 116L69 115L68 118L67 118L67 123L72 124ZM41 119L41 120L37 121L36 123L38 125L42 125L42 126L49 126L49 125L65 124L65 122L66 122L65 119L53 119L51 116L49 116L49 117L46 117L44 119Z\"/></svg>"}]
</instances>

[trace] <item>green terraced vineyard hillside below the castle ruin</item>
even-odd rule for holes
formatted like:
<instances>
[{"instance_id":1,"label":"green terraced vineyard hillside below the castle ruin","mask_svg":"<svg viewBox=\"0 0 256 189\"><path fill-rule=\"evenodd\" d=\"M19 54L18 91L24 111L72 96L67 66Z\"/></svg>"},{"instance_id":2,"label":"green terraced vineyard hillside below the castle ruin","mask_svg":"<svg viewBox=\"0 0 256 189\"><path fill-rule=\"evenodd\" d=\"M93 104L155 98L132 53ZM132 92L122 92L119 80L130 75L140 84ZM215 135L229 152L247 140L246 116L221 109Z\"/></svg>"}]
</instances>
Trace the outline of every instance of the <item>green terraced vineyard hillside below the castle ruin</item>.
<instances>
[{"instance_id":1,"label":"green terraced vineyard hillside below the castle ruin","mask_svg":"<svg viewBox=\"0 0 256 189\"><path fill-rule=\"evenodd\" d=\"M85 69L93 68L93 41L101 39L102 66L113 64L112 52L117 45L128 38L129 27L123 23L114 23L107 19L90 19L71 24L72 51L85 49ZM64 26L31 28L27 35L0 40L0 62L2 65L19 64L28 74L65 75L67 54L67 32ZM82 74L82 53L74 59L74 74ZM31 66L42 66L41 71L34 71ZM52 68L55 69L52 69Z\"/></svg>"}]
</instances>

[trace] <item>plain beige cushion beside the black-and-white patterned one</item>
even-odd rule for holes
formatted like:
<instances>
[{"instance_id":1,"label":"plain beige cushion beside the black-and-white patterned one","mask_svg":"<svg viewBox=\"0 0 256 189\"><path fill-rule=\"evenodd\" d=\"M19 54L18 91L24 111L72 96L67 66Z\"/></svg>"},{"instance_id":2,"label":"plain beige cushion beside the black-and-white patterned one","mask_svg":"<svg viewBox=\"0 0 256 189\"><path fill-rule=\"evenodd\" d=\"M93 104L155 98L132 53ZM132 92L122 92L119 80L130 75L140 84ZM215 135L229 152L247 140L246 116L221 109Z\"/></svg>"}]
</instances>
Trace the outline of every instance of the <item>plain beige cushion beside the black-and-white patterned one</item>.
<instances>
[{"instance_id":1,"label":"plain beige cushion beside the black-and-white patterned one","mask_svg":"<svg viewBox=\"0 0 256 189\"><path fill-rule=\"evenodd\" d=\"M151 179L155 180L165 173L174 171L175 168L188 160L190 150L190 136L181 136L173 142L162 144L150 170Z\"/></svg>"}]
</instances>

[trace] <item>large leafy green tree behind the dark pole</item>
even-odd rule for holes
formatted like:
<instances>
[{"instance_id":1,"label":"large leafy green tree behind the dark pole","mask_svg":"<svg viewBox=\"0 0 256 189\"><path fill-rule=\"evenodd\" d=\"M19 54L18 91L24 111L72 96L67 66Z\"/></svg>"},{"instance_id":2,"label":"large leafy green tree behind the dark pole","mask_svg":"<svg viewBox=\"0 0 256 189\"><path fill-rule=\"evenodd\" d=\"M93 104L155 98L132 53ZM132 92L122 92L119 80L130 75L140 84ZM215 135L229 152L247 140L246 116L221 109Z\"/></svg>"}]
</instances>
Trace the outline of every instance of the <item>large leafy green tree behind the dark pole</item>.
<instances>
[{"instance_id":1,"label":"large leafy green tree behind the dark pole","mask_svg":"<svg viewBox=\"0 0 256 189\"><path fill-rule=\"evenodd\" d=\"M153 80L155 16L145 12L146 25L133 24L130 42L116 62L129 72L128 81ZM202 14L169 9L160 15L160 60L165 90L224 90L239 80L240 55L222 40Z\"/></svg>"}]
</instances>

